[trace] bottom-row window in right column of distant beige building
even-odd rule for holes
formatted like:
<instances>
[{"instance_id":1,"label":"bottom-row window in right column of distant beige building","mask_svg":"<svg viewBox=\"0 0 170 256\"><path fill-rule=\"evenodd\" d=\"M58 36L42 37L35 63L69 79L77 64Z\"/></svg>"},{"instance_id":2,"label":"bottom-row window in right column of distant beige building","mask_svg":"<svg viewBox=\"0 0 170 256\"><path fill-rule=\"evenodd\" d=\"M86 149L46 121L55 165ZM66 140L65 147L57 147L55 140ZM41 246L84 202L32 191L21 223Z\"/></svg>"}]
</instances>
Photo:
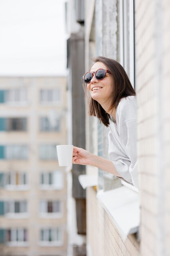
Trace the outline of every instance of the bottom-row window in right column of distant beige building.
<instances>
[{"instance_id":1,"label":"bottom-row window in right column of distant beige building","mask_svg":"<svg viewBox=\"0 0 170 256\"><path fill-rule=\"evenodd\" d=\"M41 242L62 242L62 230L60 228L43 228L40 230Z\"/></svg>"}]
</instances>

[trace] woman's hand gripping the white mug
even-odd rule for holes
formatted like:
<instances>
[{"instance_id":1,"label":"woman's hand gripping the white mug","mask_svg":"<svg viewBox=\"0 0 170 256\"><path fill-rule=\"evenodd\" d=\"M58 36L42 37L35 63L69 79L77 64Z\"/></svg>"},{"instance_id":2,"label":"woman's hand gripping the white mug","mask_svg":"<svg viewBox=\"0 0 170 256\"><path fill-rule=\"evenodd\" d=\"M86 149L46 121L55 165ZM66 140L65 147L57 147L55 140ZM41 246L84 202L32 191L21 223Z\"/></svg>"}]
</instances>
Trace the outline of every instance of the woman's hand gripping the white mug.
<instances>
[{"instance_id":1,"label":"woman's hand gripping the white mug","mask_svg":"<svg viewBox=\"0 0 170 256\"><path fill-rule=\"evenodd\" d=\"M83 148L73 147L73 164L90 165L93 154Z\"/></svg>"}]
</instances>

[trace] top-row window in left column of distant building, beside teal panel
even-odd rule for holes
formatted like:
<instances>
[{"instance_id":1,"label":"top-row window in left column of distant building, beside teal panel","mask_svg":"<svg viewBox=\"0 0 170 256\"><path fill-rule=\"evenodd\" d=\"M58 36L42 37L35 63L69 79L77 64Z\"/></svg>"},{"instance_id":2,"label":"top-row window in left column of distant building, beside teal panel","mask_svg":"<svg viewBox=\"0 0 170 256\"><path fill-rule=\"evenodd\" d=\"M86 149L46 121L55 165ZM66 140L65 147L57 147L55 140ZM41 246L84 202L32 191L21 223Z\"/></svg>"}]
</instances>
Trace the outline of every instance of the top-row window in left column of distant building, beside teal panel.
<instances>
[{"instance_id":1,"label":"top-row window in left column of distant building, beside teal panel","mask_svg":"<svg viewBox=\"0 0 170 256\"><path fill-rule=\"evenodd\" d=\"M5 102L20 103L27 101L26 88L17 88L12 90L5 90Z\"/></svg>"}]
</instances>

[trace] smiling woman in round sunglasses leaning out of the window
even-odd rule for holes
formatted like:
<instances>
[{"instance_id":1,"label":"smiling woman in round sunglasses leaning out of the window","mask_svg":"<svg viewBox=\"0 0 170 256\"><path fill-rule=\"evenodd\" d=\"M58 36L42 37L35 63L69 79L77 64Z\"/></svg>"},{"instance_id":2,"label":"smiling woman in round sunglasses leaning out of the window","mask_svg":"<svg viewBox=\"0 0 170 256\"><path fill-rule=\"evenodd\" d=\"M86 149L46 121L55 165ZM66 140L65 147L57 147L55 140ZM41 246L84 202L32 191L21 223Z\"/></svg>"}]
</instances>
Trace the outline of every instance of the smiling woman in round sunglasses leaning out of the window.
<instances>
[{"instance_id":1,"label":"smiling woman in round sunglasses leaning out of the window","mask_svg":"<svg viewBox=\"0 0 170 256\"><path fill-rule=\"evenodd\" d=\"M94 62L84 75L84 85L90 93L89 114L109 127L110 160L74 146L73 164L96 166L138 186L135 90L117 61L97 57Z\"/></svg>"}]
</instances>

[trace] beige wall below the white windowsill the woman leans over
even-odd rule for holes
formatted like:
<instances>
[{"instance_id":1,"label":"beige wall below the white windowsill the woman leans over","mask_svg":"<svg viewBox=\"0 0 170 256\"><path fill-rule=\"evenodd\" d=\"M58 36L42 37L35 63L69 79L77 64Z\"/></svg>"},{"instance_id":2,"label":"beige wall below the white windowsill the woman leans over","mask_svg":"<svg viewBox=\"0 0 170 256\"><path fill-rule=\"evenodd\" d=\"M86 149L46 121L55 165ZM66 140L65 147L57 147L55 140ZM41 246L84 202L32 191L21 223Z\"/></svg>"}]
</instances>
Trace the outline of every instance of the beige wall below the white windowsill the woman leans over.
<instances>
[{"instance_id":1,"label":"beige wall below the white windowsill the woman leans over","mask_svg":"<svg viewBox=\"0 0 170 256\"><path fill-rule=\"evenodd\" d=\"M87 189L87 248L88 256L139 256L139 243L135 236L124 242L102 205L96 191Z\"/></svg>"}]
</instances>

